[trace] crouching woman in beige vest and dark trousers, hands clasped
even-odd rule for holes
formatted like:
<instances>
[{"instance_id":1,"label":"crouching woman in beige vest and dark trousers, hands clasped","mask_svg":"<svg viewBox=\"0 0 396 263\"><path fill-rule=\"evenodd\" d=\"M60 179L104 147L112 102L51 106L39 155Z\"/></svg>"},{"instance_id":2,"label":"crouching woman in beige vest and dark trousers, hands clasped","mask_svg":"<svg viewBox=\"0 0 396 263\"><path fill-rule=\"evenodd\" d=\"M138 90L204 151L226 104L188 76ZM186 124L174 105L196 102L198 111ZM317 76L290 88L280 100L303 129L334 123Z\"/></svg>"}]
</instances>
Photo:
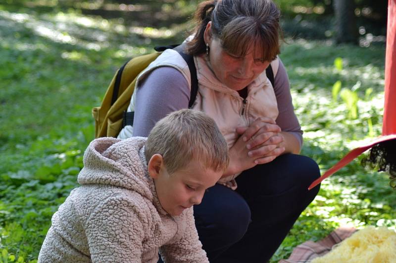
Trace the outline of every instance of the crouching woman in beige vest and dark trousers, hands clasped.
<instances>
[{"instance_id":1,"label":"crouching woman in beige vest and dark trousers, hands clasped","mask_svg":"<svg viewBox=\"0 0 396 263\"><path fill-rule=\"evenodd\" d=\"M192 108L216 121L230 149L220 184L194 207L211 263L268 261L319 190L307 190L317 164L297 155L302 131L277 57L279 16L271 0L205 1L185 43L198 77ZM274 86L265 75L270 64ZM190 86L186 62L164 51L140 76L129 108L133 130L126 126L119 137L147 136L164 115L187 108Z\"/></svg>"}]
</instances>

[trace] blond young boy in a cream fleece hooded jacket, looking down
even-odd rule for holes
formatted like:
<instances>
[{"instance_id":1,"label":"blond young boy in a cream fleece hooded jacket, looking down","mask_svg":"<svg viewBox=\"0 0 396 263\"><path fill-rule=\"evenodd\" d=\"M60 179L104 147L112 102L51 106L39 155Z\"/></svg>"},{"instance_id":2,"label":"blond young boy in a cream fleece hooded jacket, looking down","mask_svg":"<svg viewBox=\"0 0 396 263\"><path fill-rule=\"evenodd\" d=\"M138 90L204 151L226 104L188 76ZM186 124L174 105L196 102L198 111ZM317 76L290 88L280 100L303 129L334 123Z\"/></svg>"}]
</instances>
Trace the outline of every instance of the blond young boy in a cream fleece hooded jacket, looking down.
<instances>
[{"instance_id":1,"label":"blond young boy in a cream fleece hooded jacket, looking down","mask_svg":"<svg viewBox=\"0 0 396 263\"><path fill-rule=\"evenodd\" d=\"M204 113L181 110L143 137L99 138L81 185L52 217L39 263L208 262L193 208L220 179L227 144Z\"/></svg>"}]
</instances>

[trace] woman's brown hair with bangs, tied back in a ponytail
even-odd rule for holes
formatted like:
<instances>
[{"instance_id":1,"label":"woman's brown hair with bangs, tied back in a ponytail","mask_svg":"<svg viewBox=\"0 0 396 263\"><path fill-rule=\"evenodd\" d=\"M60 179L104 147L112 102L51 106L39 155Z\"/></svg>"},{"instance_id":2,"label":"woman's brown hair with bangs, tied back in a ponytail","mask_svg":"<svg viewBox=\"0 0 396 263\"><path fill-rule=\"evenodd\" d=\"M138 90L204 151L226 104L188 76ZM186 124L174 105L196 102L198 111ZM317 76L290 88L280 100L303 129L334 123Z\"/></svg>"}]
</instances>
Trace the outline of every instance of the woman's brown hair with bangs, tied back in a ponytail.
<instances>
[{"instance_id":1,"label":"woman's brown hair with bangs, tied back in a ponytail","mask_svg":"<svg viewBox=\"0 0 396 263\"><path fill-rule=\"evenodd\" d=\"M211 21L212 37L220 39L227 53L245 56L253 43L260 45L263 61L272 61L280 53L279 18L279 8L272 0L204 1L195 13L197 27L194 37L187 42L186 52L191 55L206 52L203 34Z\"/></svg>"}]
</instances>

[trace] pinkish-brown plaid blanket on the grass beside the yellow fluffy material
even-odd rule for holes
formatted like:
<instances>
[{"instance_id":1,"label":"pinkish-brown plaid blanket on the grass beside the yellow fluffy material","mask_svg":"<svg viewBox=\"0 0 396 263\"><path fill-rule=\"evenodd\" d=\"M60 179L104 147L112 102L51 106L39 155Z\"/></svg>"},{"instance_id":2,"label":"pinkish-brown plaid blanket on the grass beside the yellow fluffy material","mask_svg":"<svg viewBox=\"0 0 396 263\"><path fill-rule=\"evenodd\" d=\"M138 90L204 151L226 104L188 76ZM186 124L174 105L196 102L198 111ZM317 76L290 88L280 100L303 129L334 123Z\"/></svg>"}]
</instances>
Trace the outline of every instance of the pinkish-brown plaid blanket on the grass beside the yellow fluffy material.
<instances>
[{"instance_id":1,"label":"pinkish-brown plaid blanket on the grass beside the yellow fluffy material","mask_svg":"<svg viewBox=\"0 0 396 263\"><path fill-rule=\"evenodd\" d=\"M293 250L289 259L281 260L279 263L308 263L314 258L330 252L334 245L340 243L355 231L356 229L353 227L340 227L318 242L306 241Z\"/></svg>"}]
</instances>

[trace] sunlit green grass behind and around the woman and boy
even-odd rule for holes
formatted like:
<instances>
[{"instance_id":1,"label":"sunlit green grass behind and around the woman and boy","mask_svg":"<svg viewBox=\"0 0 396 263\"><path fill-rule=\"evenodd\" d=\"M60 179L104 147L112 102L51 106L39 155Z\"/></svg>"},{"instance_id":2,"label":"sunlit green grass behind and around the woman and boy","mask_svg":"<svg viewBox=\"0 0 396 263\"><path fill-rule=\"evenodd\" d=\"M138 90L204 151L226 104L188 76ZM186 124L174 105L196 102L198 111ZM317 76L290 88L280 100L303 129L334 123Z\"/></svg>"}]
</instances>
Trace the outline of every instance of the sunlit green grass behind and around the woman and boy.
<instances>
[{"instance_id":1,"label":"sunlit green grass behind and around the woman and boy","mask_svg":"<svg viewBox=\"0 0 396 263\"><path fill-rule=\"evenodd\" d=\"M83 151L94 138L91 108L99 105L115 70L152 46L180 42L190 26L183 12L171 25L166 17L127 23L48 7L51 1L29 8L8 2L0 2L0 262L35 262L52 214L77 185ZM180 8L169 4L155 8ZM384 54L383 45L303 39L284 45L281 58L305 131L302 153L323 171L359 141L381 133ZM338 80L341 90L333 98ZM347 107L351 96L341 96L347 90L357 95L356 118ZM353 161L322 184L272 262L340 225L395 228L394 195L385 174Z\"/></svg>"}]
</instances>

